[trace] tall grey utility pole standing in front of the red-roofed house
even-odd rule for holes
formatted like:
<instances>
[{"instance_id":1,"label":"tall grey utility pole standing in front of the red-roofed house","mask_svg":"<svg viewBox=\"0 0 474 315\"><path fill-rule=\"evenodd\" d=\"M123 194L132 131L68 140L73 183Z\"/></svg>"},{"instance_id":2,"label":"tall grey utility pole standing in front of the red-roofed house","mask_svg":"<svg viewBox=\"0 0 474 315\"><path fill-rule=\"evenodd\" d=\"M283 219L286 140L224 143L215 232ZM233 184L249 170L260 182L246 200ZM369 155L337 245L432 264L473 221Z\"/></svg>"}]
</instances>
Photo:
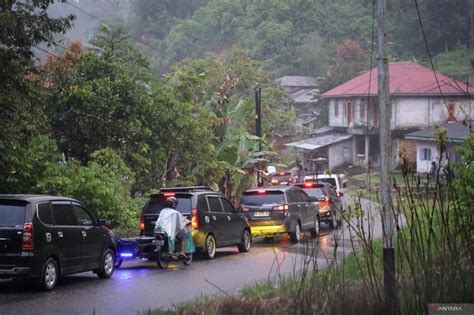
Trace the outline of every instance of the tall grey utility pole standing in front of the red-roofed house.
<instances>
[{"instance_id":1,"label":"tall grey utility pole standing in front of the red-roofed house","mask_svg":"<svg viewBox=\"0 0 474 315\"><path fill-rule=\"evenodd\" d=\"M385 313L397 313L397 291L395 285L395 251L393 248L394 211L390 196L390 179L392 173L392 141L390 120L392 106L388 81L388 60L385 33L386 0L377 0L378 21L378 102L380 113L380 189L382 198L383 228L383 269Z\"/></svg>"}]
</instances>

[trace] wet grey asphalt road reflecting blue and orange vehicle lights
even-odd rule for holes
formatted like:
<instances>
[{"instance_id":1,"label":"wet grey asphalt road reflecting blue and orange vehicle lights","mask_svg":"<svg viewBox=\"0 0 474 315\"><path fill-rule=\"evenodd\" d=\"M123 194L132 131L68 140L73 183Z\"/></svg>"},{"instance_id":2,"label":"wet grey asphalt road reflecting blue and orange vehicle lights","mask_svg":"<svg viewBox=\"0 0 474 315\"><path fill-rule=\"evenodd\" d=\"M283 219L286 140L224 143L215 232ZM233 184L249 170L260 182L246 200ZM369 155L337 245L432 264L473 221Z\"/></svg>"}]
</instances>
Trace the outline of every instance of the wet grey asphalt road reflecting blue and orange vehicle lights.
<instances>
[{"instance_id":1,"label":"wet grey asphalt road reflecting blue and orange vehicle lights","mask_svg":"<svg viewBox=\"0 0 474 315\"><path fill-rule=\"evenodd\" d=\"M374 222L371 233L380 237L380 220L375 217ZM0 280L0 314L136 314L200 296L235 294L245 286L301 270L311 253L311 268L314 263L324 268L334 258L341 261L352 251L352 232L347 223L335 231L321 224L314 240L309 234L299 244L289 243L286 236L273 242L257 238L248 253L223 248L211 261L174 263L168 270L158 269L154 262L126 261L111 279L99 280L92 272L67 276L52 292L38 292L28 281Z\"/></svg>"}]
</instances>

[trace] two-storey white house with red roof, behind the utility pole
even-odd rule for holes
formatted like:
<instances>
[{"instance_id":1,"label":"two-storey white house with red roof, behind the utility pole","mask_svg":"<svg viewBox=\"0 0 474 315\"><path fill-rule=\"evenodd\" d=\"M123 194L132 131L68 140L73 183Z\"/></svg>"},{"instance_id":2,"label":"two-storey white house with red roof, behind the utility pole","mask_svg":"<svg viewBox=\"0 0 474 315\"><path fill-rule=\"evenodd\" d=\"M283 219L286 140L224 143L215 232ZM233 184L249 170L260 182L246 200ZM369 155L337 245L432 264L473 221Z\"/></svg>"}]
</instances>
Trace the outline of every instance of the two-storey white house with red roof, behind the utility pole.
<instances>
[{"instance_id":1,"label":"two-storey white house with red roof, behind the utility pole","mask_svg":"<svg viewBox=\"0 0 474 315\"><path fill-rule=\"evenodd\" d=\"M414 62L390 63L388 73L394 165L402 151L416 161L416 143L405 134L474 117L474 87ZM322 95L328 102L328 126L312 138L286 144L302 153L307 170L314 170L312 161L320 157L328 159L329 168L379 164L377 75L373 68Z\"/></svg>"}]
</instances>

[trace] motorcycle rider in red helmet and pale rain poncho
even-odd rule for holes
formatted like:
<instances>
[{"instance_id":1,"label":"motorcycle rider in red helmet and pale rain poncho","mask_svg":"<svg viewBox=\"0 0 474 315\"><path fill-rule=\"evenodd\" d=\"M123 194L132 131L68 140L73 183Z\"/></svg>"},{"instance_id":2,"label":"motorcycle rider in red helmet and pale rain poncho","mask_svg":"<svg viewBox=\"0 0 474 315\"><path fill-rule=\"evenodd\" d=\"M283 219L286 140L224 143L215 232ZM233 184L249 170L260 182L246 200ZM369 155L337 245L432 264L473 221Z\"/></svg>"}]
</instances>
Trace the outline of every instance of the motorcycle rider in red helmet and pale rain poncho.
<instances>
[{"instance_id":1,"label":"motorcycle rider in red helmet and pale rain poncho","mask_svg":"<svg viewBox=\"0 0 474 315\"><path fill-rule=\"evenodd\" d=\"M179 255L185 257L184 240L188 233L187 226L191 222L176 210L176 206L178 205L178 199L176 199L176 197L168 197L165 200L165 205L166 207L161 210L158 220L156 220L155 233L166 232L171 241L179 242L181 245Z\"/></svg>"}]
</instances>

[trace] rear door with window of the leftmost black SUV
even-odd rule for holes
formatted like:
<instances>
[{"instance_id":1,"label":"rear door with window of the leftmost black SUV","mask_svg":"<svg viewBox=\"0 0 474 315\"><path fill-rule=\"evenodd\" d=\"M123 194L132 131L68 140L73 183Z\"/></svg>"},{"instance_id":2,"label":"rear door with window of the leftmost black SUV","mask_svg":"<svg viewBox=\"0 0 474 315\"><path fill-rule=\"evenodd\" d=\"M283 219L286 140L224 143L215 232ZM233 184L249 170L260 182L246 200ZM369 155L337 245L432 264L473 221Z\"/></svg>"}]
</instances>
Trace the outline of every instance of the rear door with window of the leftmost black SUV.
<instances>
[{"instance_id":1,"label":"rear door with window of the leftmost black SUV","mask_svg":"<svg viewBox=\"0 0 474 315\"><path fill-rule=\"evenodd\" d=\"M11 268L20 262L27 204L0 199L0 268Z\"/></svg>"}]
</instances>

